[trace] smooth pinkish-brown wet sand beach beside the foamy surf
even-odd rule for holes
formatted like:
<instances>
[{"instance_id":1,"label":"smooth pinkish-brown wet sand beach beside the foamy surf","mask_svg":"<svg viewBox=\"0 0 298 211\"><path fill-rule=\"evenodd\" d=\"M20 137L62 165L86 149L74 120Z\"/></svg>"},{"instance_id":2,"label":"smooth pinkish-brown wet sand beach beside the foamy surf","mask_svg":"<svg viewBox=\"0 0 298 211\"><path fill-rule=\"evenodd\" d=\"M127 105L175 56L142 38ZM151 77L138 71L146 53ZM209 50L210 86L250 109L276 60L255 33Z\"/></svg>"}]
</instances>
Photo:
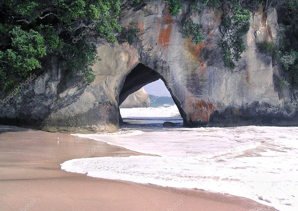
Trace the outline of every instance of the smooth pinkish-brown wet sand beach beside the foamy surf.
<instances>
[{"instance_id":1,"label":"smooth pinkish-brown wet sand beach beside the foamy surf","mask_svg":"<svg viewBox=\"0 0 298 211\"><path fill-rule=\"evenodd\" d=\"M227 194L60 170L84 156L141 155L90 139L0 125L0 143L0 210L274 210Z\"/></svg>"}]
</instances>

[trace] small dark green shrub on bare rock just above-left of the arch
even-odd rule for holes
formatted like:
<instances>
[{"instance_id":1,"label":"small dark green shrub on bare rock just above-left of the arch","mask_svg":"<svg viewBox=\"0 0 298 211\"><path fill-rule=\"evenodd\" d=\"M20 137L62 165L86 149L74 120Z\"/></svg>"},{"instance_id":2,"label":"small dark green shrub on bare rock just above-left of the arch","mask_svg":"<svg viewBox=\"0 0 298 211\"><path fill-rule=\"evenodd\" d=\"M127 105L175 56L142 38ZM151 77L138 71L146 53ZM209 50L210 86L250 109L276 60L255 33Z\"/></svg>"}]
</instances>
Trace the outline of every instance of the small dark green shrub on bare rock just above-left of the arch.
<instances>
[{"instance_id":1,"label":"small dark green shrub on bare rock just above-left of the arch","mask_svg":"<svg viewBox=\"0 0 298 211\"><path fill-rule=\"evenodd\" d=\"M140 29L136 27L136 23L130 23L129 27L122 27L121 33L118 36L118 41L128 42L133 44L135 41L139 41Z\"/></svg>"}]
</instances>

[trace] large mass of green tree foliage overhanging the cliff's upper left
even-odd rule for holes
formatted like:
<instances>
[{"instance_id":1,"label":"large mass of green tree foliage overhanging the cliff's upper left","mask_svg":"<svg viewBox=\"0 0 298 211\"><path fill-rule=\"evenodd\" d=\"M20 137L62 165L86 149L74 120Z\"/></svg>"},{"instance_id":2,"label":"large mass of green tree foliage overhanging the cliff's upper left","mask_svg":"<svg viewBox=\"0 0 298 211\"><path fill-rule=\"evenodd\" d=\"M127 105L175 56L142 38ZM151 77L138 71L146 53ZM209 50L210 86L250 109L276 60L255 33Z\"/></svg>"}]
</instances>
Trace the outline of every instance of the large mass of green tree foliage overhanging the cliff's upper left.
<instances>
[{"instance_id":1,"label":"large mass of green tree foliage overhanging the cliff's upper left","mask_svg":"<svg viewBox=\"0 0 298 211\"><path fill-rule=\"evenodd\" d=\"M13 89L52 58L69 76L94 80L99 57L89 38L116 41L120 0L7 0L0 2L0 90ZM94 26L94 27L91 27Z\"/></svg>"}]
</instances>

